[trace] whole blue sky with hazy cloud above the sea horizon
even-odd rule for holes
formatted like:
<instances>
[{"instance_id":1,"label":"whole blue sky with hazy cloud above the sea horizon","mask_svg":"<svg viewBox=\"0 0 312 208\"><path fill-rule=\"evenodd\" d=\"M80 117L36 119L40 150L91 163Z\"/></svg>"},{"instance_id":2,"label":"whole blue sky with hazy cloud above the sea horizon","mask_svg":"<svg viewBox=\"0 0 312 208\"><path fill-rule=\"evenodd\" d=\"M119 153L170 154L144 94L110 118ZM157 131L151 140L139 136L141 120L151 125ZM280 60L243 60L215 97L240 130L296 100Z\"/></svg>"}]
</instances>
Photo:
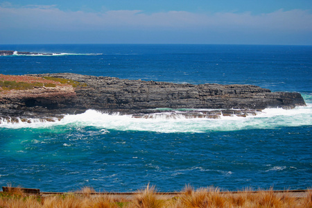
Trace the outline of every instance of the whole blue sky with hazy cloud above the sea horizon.
<instances>
[{"instance_id":1,"label":"whole blue sky with hazy cloud above the sea horizon","mask_svg":"<svg viewBox=\"0 0 312 208\"><path fill-rule=\"evenodd\" d=\"M312 45L312 0L0 0L0 44Z\"/></svg>"}]
</instances>

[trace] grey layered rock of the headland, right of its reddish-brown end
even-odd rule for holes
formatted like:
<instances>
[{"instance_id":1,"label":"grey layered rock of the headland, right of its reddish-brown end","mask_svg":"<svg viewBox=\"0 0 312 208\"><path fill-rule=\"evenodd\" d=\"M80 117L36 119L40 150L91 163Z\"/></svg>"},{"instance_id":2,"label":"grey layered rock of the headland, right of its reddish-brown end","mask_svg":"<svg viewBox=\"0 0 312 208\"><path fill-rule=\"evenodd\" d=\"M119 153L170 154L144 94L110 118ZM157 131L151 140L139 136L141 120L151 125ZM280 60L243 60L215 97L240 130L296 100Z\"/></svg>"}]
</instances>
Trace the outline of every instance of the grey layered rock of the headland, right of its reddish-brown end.
<instances>
[{"instance_id":1,"label":"grey layered rock of the headland, right of its reddish-brown end","mask_svg":"<svg viewBox=\"0 0 312 208\"><path fill-rule=\"evenodd\" d=\"M46 74L86 83L75 89L77 101L96 110L145 110L169 108L293 108L305 105L299 93L270 92L254 85L191 85L111 77L83 76L73 73Z\"/></svg>"}]
</instances>

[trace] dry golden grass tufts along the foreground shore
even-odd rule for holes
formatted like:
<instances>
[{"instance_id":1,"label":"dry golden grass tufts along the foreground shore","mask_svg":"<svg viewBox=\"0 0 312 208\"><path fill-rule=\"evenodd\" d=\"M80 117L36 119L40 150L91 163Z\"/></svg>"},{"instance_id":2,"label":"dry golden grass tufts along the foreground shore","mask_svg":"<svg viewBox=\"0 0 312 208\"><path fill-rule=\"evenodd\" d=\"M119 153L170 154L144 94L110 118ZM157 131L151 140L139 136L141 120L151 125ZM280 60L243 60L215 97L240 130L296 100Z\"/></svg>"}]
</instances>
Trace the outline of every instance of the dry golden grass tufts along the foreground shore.
<instances>
[{"instance_id":1,"label":"dry golden grass tufts along the foreground shore","mask_svg":"<svg viewBox=\"0 0 312 208\"><path fill-rule=\"evenodd\" d=\"M96 194L91 187L83 187L78 192L53 196L27 196L21 189L10 189L0 193L0 207L44 207L44 208L201 208L201 207L312 207L312 191L305 198L293 198L287 194L245 189L239 193L220 192L214 187L193 189L187 186L173 198L157 194L155 187L148 184L137 191L129 200L112 195Z\"/></svg>"}]
</instances>

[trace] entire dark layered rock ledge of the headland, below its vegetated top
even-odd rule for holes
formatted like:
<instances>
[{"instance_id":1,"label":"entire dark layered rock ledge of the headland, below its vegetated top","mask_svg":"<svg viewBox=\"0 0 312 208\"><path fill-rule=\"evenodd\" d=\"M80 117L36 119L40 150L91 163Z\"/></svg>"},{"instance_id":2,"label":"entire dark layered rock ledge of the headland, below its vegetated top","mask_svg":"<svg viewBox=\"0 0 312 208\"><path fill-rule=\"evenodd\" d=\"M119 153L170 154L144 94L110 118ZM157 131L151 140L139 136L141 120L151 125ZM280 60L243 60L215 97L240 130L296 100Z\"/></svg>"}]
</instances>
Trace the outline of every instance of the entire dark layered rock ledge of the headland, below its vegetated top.
<instances>
[{"instance_id":1,"label":"entire dark layered rock ledge of the headland, below its vegetated top","mask_svg":"<svg viewBox=\"0 0 312 208\"><path fill-rule=\"evenodd\" d=\"M218 119L221 115L255 115L268 107L291 109L306 105L297 92L271 92L254 85L175 84L76 73L28 76L64 78L83 85L0 92L0 122L58 121L64 114L89 109L146 119Z\"/></svg>"}]
</instances>

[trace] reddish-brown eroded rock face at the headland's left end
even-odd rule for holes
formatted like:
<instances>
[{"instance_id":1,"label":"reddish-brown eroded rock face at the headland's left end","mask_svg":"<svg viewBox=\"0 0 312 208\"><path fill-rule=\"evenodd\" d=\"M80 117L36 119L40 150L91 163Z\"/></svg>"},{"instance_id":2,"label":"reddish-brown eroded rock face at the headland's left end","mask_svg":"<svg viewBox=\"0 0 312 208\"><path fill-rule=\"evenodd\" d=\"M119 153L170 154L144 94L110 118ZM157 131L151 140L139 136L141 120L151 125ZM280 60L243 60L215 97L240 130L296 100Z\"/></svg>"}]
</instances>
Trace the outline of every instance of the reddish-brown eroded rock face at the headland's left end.
<instances>
[{"instance_id":1,"label":"reddish-brown eroded rock face at the headland's left end","mask_svg":"<svg viewBox=\"0 0 312 208\"><path fill-rule=\"evenodd\" d=\"M50 118L74 106L76 92L70 85L0 92L3 118Z\"/></svg>"}]
</instances>

